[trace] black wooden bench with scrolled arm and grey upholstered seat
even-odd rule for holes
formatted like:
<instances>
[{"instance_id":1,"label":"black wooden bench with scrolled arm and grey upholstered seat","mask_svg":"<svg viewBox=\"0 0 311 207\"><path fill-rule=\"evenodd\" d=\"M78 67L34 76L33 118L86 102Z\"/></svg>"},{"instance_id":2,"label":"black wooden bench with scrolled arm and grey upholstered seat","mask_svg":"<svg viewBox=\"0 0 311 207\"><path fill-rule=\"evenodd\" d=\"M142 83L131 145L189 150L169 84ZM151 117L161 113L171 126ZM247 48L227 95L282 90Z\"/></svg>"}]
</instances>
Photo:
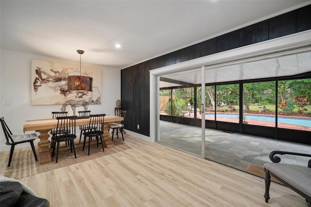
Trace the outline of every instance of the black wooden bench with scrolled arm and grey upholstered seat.
<instances>
[{"instance_id":1,"label":"black wooden bench with scrolled arm and grey upholstered seat","mask_svg":"<svg viewBox=\"0 0 311 207\"><path fill-rule=\"evenodd\" d=\"M296 193L301 195L308 202L308 206L311 207L311 159L307 166L299 166L292 164L279 163L280 157L275 155L298 155L311 157L308 154L284 152L284 151L273 151L270 153L269 158L272 163L265 163L263 165L265 175L265 202L268 203L270 199L269 189L271 183L271 176L275 177L282 184L294 190Z\"/></svg>"}]
</instances>

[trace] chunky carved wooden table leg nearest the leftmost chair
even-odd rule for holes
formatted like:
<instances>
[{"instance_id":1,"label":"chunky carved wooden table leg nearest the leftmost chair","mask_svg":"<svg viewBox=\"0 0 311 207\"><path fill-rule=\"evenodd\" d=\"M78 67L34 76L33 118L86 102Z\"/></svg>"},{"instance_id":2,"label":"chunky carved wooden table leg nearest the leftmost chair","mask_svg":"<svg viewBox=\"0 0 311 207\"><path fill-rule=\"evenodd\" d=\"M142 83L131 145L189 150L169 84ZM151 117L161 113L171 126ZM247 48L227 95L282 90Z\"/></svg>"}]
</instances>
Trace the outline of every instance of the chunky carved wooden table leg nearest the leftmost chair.
<instances>
[{"instance_id":1,"label":"chunky carved wooden table leg nearest the leftmost chair","mask_svg":"<svg viewBox=\"0 0 311 207\"><path fill-rule=\"evenodd\" d=\"M38 142L40 164L52 162L51 152L49 149L51 145L51 142L49 141L49 131L50 129L37 130L37 132L40 133L40 141Z\"/></svg>"}]
</instances>

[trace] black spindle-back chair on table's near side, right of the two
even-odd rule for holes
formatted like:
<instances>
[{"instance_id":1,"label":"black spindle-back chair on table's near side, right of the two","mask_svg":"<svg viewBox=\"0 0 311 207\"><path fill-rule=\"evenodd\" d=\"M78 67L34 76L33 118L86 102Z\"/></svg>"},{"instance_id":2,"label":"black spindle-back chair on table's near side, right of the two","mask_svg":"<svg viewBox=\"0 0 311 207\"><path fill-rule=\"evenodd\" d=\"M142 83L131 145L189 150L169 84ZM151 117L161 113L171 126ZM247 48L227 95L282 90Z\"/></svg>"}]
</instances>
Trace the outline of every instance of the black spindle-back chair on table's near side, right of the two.
<instances>
[{"instance_id":1,"label":"black spindle-back chair on table's near side, right of the two","mask_svg":"<svg viewBox=\"0 0 311 207\"><path fill-rule=\"evenodd\" d=\"M102 147L103 147L103 152L104 152L104 138L103 138L103 134L104 134L104 117L106 116L106 114L97 114L97 115L89 115L89 124L88 124L88 128L86 129L86 131L83 133L84 135L84 142L83 142L83 150L85 148L86 145L86 137L88 137L88 155L89 155L89 151L90 151L90 145L91 145L91 140L92 137L96 137L96 141L97 141L97 147L98 145L98 138L101 138L102 141Z\"/></svg>"}]
</instances>

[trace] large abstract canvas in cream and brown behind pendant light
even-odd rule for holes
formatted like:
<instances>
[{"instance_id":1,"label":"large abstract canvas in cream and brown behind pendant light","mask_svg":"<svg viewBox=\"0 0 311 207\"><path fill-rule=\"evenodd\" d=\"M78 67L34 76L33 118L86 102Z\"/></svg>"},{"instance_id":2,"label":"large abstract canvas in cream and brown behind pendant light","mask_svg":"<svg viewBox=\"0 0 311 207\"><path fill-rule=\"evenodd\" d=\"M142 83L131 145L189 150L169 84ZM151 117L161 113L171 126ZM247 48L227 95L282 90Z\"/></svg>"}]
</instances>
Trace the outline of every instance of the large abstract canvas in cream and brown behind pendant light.
<instances>
[{"instance_id":1,"label":"large abstract canvas in cream and brown behind pendant light","mask_svg":"<svg viewBox=\"0 0 311 207\"><path fill-rule=\"evenodd\" d=\"M80 75L80 66L44 60L32 60L31 65L32 105L62 105L70 99L101 104L101 69L82 67L81 75L93 78L93 91L71 92L67 90L68 76Z\"/></svg>"}]
</instances>

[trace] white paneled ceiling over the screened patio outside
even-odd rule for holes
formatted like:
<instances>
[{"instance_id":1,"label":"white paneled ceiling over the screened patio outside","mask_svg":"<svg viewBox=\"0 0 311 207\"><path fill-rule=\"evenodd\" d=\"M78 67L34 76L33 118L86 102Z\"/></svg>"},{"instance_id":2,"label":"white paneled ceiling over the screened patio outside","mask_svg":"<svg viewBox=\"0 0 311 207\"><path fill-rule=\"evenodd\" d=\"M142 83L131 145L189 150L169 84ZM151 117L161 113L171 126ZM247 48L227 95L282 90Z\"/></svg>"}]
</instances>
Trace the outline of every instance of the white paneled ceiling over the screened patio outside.
<instances>
[{"instance_id":1,"label":"white paneled ceiling over the screened patio outside","mask_svg":"<svg viewBox=\"0 0 311 207\"><path fill-rule=\"evenodd\" d=\"M309 49L310 50L310 49ZM282 77L311 71L311 52L301 52L257 61L247 61L227 66L213 66L205 69L205 83L222 83L269 77ZM161 77L190 84L201 84L201 69L162 75ZM182 86L160 81L160 88Z\"/></svg>"}]
</instances>

